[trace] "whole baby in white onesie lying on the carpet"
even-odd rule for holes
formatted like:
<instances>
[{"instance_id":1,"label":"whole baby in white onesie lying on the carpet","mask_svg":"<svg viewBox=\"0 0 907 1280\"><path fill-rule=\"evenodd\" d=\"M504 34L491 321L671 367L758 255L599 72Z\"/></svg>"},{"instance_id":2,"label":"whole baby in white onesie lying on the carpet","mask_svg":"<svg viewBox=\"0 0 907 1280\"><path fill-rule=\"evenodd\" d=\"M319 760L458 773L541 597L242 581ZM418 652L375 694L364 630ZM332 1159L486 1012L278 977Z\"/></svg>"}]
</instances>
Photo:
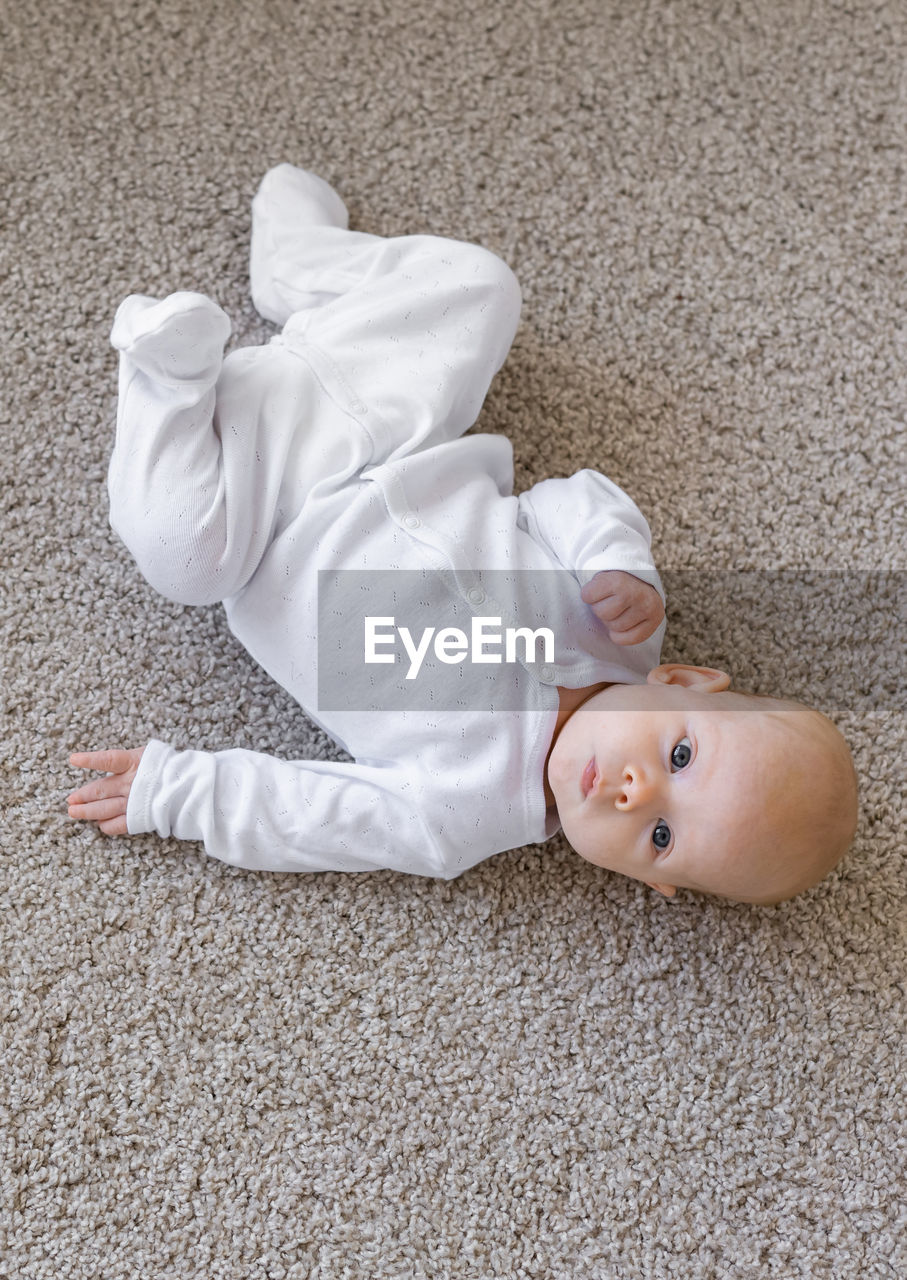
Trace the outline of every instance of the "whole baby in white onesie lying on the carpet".
<instances>
[{"instance_id":1,"label":"whole baby in white onesie lying on the carpet","mask_svg":"<svg viewBox=\"0 0 907 1280\"><path fill-rule=\"evenodd\" d=\"M351 232L336 192L279 165L251 283L283 330L226 358L201 294L120 306L110 518L164 595L221 600L354 763L79 753L106 776L70 815L281 872L450 878L563 828L665 895L769 904L821 879L856 826L837 728L659 664L663 590L627 494L581 471L514 497L509 443L464 435L519 317L509 269ZM448 625L417 640L400 617Z\"/></svg>"}]
</instances>

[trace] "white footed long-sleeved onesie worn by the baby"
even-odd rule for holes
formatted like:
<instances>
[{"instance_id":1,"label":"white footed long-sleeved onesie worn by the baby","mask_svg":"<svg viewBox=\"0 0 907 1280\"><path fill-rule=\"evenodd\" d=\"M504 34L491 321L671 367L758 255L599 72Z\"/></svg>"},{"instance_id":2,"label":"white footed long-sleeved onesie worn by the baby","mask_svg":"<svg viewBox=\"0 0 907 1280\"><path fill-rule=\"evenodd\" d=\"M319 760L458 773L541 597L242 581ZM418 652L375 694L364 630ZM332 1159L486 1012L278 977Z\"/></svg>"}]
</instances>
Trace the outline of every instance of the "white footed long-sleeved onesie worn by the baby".
<instances>
[{"instance_id":1,"label":"white footed long-sleeved onesie worn by the baby","mask_svg":"<svg viewBox=\"0 0 907 1280\"><path fill-rule=\"evenodd\" d=\"M152 741L129 831L256 869L444 878L549 838L558 686L645 681L664 630L618 648L580 589L604 568L661 586L617 485L581 471L517 498L509 442L462 438L513 339L514 276L477 246L349 232L330 187L280 165L253 202L252 296L283 333L225 360L229 320L201 294L119 308L111 524L162 594L223 600L356 763ZM548 626L554 652L467 655L439 703L402 650L359 660L362 618L386 616L389 591L398 617L427 604L426 626L435 608L464 631Z\"/></svg>"}]
</instances>

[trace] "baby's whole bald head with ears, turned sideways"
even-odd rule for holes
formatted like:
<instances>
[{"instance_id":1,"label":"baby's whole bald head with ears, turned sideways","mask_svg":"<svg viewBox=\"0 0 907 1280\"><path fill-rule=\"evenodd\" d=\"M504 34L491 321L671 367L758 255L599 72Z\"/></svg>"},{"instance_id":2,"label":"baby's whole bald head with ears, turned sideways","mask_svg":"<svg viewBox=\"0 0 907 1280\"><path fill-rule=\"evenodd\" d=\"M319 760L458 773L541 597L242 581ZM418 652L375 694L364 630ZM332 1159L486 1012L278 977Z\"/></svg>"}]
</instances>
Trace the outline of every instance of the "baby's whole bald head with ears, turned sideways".
<instances>
[{"instance_id":1,"label":"baby's whole bald head with ears, turned sideways","mask_svg":"<svg viewBox=\"0 0 907 1280\"><path fill-rule=\"evenodd\" d=\"M729 684L668 663L569 716L548 782L578 854L663 893L764 905L837 865L857 820L847 744L820 712Z\"/></svg>"}]
</instances>

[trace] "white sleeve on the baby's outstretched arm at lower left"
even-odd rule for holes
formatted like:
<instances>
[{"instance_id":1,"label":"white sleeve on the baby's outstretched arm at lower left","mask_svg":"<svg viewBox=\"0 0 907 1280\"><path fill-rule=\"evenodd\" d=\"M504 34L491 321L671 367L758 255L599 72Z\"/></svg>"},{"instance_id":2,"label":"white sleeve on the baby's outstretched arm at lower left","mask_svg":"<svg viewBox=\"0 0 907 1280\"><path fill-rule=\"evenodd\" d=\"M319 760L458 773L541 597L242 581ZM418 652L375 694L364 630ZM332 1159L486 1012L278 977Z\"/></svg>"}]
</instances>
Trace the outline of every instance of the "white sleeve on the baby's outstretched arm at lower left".
<instances>
[{"instance_id":1,"label":"white sleeve on the baby's outstretched arm at lower left","mask_svg":"<svg viewBox=\"0 0 907 1280\"><path fill-rule=\"evenodd\" d=\"M450 878L404 771L257 751L177 751L152 740L129 792L130 835L200 840L234 867Z\"/></svg>"}]
</instances>

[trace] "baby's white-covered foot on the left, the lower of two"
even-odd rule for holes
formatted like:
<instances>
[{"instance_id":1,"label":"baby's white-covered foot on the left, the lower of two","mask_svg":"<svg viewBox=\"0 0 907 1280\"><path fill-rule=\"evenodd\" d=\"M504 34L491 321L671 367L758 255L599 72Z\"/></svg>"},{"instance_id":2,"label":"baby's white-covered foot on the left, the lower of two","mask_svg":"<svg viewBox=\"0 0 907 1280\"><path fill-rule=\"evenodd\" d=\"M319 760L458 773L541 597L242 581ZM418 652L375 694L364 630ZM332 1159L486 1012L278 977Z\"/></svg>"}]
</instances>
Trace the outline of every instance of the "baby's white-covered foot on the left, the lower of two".
<instances>
[{"instance_id":1,"label":"baby's white-covered foot on the left, the lower of two","mask_svg":"<svg viewBox=\"0 0 907 1280\"><path fill-rule=\"evenodd\" d=\"M110 340L155 381L177 385L216 381L229 337L229 317L203 293L133 293L116 311Z\"/></svg>"}]
</instances>

